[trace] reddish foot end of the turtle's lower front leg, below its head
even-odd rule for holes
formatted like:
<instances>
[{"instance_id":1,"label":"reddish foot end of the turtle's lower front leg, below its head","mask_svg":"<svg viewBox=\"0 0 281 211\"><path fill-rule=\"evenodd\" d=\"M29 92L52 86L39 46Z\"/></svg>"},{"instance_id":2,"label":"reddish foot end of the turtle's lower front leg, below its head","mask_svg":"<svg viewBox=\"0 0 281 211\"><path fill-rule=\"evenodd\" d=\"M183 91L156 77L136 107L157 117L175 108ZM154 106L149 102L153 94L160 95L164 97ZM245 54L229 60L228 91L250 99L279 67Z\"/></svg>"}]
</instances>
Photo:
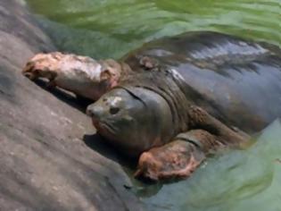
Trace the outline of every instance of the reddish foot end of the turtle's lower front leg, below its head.
<instances>
[{"instance_id":1,"label":"reddish foot end of the turtle's lower front leg, below its head","mask_svg":"<svg viewBox=\"0 0 281 211\"><path fill-rule=\"evenodd\" d=\"M152 181L186 178L202 163L205 155L193 143L176 140L143 153L135 177Z\"/></svg>"}]
</instances>

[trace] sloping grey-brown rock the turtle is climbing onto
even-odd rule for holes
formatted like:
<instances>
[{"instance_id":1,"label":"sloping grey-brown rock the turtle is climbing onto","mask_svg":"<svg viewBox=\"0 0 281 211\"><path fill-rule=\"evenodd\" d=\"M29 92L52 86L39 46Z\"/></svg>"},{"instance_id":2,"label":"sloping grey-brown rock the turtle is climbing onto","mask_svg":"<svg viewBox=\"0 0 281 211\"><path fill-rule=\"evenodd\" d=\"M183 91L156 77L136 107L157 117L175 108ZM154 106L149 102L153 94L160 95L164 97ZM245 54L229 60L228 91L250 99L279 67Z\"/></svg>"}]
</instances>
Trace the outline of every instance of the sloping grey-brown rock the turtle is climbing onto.
<instances>
[{"instance_id":1,"label":"sloping grey-brown rock the turtle is climbing onto","mask_svg":"<svg viewBox=\"0 0 281 211\"><path fill-rule=\"evenodd\" d=\"M21 75L32 55L54 50L24 5L1 0L0 210L142 210L81 106Z\"/></svg>"}]
</instances>

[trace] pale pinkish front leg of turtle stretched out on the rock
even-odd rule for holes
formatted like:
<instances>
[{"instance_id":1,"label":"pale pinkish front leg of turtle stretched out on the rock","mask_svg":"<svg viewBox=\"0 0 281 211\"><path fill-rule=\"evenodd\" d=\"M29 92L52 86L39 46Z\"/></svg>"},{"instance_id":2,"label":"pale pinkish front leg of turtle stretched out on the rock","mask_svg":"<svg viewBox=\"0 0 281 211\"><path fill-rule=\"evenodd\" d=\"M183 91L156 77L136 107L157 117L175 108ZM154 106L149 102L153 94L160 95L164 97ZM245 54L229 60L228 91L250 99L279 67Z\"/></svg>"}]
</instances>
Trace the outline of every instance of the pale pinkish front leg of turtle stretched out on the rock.
<instances>
[{"instance_id":1,"label":"pale pinkish front leg of turtle stretched out on the rock","mask_svg":"<svg viewBox=\"0 0 281 211\"><path fill-rule=\"evenodd\" d=\"M35 55L22 73L30 80L49 80L48 87L58 86L95 101L116 86L125 71L130 71L128 64L112 59L95 61L87 56L54 52Z\"/></svg>"}]
</instances>

